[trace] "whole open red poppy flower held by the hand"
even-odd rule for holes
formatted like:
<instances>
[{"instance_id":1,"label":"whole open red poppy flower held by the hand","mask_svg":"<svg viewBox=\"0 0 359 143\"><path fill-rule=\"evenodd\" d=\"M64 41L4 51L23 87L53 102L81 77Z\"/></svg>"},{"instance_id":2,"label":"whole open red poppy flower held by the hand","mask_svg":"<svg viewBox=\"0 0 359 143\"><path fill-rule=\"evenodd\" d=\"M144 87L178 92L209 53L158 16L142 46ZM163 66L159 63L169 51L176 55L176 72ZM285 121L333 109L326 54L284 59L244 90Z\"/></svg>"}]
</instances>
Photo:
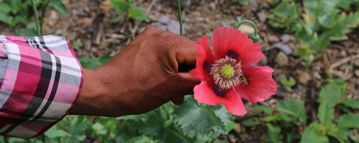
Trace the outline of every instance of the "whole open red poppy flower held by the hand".
<instances>
[{"instance_id":1,"label":"whole open red poppy flower held by the hand","mask_svg":"<svg viewBox=\"0 0 359 143\"><path fill-rule=\"evenodd\" d=\"M251 66L264 54L261 46L246 34L228 27L213 31L212 47L209 36L195 42L198 52L196 68L190 74L202 82L194 88L195 99L209 105L224 105L234 115L247 113L242 98L257 103L277 92L272 68Z\"/></svg>"}]
</instances>

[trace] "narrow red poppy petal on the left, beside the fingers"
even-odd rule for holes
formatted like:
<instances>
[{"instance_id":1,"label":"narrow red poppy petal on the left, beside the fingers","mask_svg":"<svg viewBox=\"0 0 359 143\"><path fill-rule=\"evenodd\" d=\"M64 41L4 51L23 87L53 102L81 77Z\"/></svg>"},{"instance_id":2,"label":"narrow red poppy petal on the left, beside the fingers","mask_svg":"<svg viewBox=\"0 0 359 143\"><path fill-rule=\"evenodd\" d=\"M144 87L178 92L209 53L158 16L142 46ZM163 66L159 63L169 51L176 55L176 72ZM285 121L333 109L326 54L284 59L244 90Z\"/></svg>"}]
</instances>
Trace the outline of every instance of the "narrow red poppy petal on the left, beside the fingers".
<instances>
[{"instance_id":1,"label":"narrow red poppy petal on the left, beside the fingers","mask_svg":"<svg viewBox=\"0 0 359 143\"><path fill-rule=\"evenodd\" d=\"M191 76L204 80L210 72L211 63L215 61L209 47L209 36L202 37L195 42L198 55L196 57L196 68L190 71Z\"/></svg>"}]
</instances>

